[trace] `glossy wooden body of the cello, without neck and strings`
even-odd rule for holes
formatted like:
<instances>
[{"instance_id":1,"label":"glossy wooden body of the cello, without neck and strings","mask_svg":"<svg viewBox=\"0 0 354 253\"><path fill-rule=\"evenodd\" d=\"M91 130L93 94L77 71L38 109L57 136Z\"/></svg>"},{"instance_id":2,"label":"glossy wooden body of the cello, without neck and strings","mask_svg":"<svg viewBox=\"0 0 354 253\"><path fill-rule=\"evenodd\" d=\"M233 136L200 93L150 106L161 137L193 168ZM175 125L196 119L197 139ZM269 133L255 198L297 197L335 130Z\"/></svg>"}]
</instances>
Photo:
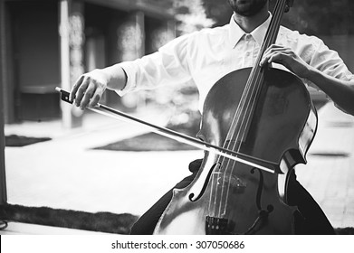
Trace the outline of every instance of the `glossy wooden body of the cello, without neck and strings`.
<instances>
[{"instance_id":1,"label":"glossy wooden body of the cello, without neck and strings","mask_svg":"<svg viewBox=\"0 0 354 253\"><path fill-rule=\"evenodd\" d=\"M306 163L316 110L300 79L268 69L244 134L228 139L250 72L235 70L215 83L206 97L198 137L214 145L236 145L238 152L276 163L279 169L268 173L206 152L195 180L174 190L154 234L294 233L297 208L286 203L287 180L295 164Z\"/></svg>"}]
</instances>

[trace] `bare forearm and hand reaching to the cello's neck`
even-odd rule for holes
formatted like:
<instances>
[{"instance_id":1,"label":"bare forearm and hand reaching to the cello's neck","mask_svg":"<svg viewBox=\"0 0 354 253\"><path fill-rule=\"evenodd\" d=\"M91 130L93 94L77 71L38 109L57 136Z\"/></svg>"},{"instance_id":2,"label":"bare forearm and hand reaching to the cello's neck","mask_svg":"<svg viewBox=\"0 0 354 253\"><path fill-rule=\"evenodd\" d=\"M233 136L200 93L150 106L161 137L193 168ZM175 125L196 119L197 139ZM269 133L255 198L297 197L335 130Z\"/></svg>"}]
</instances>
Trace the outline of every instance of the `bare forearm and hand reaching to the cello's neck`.
<instances>
[{"instance_id":1,"label":"bare forearm and hand reaching to the cello's neck","mask_svg":"<svg viewBox=\"0 0 354 253\"><path fill-rule=\"evenodd\" d=\"M331 77L307 64L292 49L279 45L272 45L264 52L260 65L271 62L282 64L297 76L310 80L340 108L354 115L354 80L339 80Z\"/></svg>"}]
</instances>

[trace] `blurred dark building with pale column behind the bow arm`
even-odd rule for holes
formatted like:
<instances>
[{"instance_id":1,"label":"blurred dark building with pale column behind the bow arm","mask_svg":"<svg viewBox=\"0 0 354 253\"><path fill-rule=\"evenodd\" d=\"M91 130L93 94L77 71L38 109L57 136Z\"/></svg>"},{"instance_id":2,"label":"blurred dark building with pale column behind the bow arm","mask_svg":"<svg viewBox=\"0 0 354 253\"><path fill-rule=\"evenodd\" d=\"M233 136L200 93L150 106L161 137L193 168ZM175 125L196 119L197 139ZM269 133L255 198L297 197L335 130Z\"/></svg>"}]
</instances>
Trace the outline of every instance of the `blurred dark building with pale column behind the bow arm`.
<instances>
[{"instance_id":1,"label":"blurred dark building with pale column behind the bow arm","mask_svg":"<svg viewBox=\"0 0 354 253\"><path fill-rule=\"evenodd\" d=\"M176 36L173 1L1 0L5 123L61 118L80 125L55 87L71 89L84 72L154 52ZM104 102L122 101L107 92ZM123 106L123 105L121 105Z\"/></svg>"}]
</instances>

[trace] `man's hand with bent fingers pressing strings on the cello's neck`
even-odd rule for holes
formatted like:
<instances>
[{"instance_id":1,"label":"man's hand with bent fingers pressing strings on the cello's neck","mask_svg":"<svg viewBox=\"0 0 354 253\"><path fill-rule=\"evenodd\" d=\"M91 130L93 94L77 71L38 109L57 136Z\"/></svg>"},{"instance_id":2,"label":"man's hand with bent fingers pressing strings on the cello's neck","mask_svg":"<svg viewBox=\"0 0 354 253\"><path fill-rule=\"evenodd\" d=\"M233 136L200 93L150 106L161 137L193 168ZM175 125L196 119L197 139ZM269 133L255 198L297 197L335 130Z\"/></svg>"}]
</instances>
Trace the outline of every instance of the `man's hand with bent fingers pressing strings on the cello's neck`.
<instances>
[{"instance_id":1,"label":"man's hand with bent fingers pressing strings on the cello's neck","mask_svg":"<svg viewBox=\"0 0 354 253\"><path fill-rule=\"evenodd\" d=\"M263 54L261 67L267 63L279 63L291 70L292 73L301 77L308 78L310 74L310 65L301 59L299 55L280 45L273 44Z\"/></svg>"}]
</instances>

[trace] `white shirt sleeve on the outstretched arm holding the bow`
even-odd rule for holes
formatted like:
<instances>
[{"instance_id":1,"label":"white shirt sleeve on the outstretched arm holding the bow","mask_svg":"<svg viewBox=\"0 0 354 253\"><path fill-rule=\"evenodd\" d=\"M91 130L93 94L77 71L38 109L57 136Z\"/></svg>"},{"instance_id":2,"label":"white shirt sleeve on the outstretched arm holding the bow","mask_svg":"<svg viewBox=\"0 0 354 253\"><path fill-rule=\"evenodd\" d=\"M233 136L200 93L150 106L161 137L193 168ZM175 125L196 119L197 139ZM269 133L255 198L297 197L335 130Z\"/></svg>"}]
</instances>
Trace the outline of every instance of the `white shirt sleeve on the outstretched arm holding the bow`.
<instances>
[{"instance_id":1,"label":"white shirt sleeve on the outstretched arm holding the bow","mask_svg":"<svg viewBox=\"0 0 354 253\"><path fill-rule=\"evenodd\" d=\"M185 83L191 80L187 54L191 34L168 42L158 52L135 61L119 63L127 74L127 84L118 90L120 96L139 89L155 89L161 85Z\"/></svg>"}]
</instances>

